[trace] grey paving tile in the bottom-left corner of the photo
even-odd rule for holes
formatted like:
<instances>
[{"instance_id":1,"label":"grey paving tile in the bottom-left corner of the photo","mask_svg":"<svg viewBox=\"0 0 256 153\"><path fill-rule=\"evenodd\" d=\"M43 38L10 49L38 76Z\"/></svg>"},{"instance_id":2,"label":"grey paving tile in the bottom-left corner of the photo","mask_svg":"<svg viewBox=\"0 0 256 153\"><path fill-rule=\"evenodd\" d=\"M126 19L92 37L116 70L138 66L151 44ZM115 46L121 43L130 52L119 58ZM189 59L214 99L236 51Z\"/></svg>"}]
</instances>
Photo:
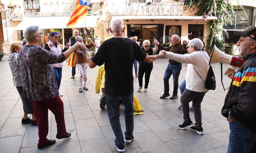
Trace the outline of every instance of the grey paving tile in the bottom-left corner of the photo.
<instances>
[{"instance_id":1,"label":"grey paving tile in the bottom-left corner of the photo","mask_svg":"<svg viewBox=\"0 0 256 153\"><path fill-rule=\"evenodd\" d=\"M22 139L23 135L0 138L0 152L19 152Z\"/></svg>"}]
</instances>

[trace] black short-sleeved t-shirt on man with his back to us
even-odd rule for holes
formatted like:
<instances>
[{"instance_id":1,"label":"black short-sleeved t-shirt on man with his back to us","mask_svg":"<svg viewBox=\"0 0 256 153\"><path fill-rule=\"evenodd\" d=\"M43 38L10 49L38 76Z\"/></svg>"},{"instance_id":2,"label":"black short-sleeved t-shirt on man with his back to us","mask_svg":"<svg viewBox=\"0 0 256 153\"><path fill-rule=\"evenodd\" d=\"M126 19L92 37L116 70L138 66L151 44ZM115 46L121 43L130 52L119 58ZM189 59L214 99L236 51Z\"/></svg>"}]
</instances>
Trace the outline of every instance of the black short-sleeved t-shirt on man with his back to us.
<instances>
[{"instance_id":1,"label":"black short-sleeved t-shirt on man with his back to us","mask_svg":"<svg viewBox=\"0 0 256 153\"><path fill-rule=\"evenodd\" d=\"M97 65L105 63L105 93L123 96L133 93L133 61L143 61L145 52L133 40L111 38L104 41L92 61Z\"/></svg>"}]
</instances>

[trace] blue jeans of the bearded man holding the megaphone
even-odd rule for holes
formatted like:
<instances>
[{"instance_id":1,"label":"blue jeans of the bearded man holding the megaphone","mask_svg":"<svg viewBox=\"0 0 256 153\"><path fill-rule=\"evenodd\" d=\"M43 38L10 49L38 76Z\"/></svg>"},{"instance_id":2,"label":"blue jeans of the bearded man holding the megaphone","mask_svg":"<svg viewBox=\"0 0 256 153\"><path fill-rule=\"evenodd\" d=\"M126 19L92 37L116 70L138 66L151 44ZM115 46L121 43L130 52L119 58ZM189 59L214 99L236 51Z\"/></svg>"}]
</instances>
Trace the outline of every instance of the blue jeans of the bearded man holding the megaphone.
<instances>
[{"instance_id":1,"label":"blue jeans of the bearded man holding the megaphone","mask_svg":"<svg viewBox=\"0 0 256 153\"><path fill-rule=\"evenodd\" d=\"M227 153L247 153L256 151L256 132L244 127L241 122L229 122L229 144Z\"/></svg>"}]
</instances>

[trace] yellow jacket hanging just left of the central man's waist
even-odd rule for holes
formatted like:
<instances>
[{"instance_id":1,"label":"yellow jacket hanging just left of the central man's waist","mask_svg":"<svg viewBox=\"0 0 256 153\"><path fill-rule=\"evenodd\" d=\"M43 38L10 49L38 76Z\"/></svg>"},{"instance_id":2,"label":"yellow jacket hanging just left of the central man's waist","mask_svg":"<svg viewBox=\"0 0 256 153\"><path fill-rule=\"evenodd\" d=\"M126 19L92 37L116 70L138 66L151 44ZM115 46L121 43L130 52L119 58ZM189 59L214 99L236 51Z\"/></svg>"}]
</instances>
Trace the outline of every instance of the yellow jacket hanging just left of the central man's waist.
<instances>
[{"instance_id":1,"label":"yellow jacket hanging just left of the central man's waist","mask_svg":"<svg viewBox=\"0 0 256 153\"><path fill-rule=\"evenodd\" d=\"M95 81L95 93L99 93L99 88L105 88L105 67L104 64L98 67Z\"/></svg>"}]
</instances>

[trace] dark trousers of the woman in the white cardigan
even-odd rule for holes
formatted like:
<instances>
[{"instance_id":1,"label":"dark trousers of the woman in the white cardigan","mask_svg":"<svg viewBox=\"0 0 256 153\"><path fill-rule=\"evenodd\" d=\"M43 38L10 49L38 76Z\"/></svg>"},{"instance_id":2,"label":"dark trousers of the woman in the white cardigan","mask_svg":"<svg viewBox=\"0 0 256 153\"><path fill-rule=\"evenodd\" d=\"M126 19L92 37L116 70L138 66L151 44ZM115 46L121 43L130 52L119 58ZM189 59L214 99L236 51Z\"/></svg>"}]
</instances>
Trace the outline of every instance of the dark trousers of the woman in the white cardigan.
<instances>
[{"instance_id":1,"label":"dark trousers of the woman in the white cardigan","mask_svg":"<svg viewBox=\"0 0 256 153\"><path fill-rule=\"evenodd\" d=\"M180 103L182 106L183 119L184 122L187 123L190 121L189 117L189 102L192 101L194 107L194 115L195 115L195 127L202 127L202 111L201 111L201 102L204 99L204 95L206 92L196 92L191 90L184 90L184 93L180 97Z\"/></svg>"}]
</instances>

